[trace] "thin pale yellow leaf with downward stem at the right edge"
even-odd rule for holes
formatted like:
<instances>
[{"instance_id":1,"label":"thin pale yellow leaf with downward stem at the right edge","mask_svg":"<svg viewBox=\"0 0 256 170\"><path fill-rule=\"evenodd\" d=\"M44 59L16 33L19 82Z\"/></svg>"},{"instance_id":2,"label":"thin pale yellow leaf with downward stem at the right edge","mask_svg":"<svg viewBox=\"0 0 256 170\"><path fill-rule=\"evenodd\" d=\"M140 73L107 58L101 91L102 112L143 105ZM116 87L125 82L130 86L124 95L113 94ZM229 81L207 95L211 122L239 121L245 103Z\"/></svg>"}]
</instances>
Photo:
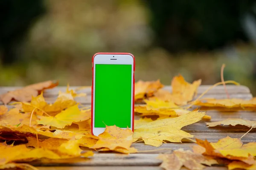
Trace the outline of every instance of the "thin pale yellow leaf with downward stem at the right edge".
<instances>
[{"instance_id":1,"label":"thin pale yellow leaf with downward stem at the right edge","mask_svg":"<svg viewBox=\"0 0 256 170\"><path fill-rule=\"evenodd\" d=\"M217 125L244 125L247 127L256 127L256 121L251 121L251 120L244 120L244 119L226 119L218 122L207 122L206 123L207 127L214 127Z\"/></svg>"}]
</instances>

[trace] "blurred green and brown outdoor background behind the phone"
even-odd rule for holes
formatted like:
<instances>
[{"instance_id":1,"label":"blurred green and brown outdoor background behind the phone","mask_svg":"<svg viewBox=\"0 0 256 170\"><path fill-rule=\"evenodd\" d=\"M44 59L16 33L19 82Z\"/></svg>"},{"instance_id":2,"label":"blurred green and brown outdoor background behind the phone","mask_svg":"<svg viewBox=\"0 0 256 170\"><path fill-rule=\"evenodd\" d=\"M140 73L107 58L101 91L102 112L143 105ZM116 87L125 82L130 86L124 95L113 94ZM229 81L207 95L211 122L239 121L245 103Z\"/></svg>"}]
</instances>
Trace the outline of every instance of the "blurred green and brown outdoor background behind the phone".
<instances>
[{"instance_id":1,"label":"blurred green and brown outdoor background behind the phone","mask_svg":"<svg viewBox=\"0 0 256 170\"><path fill-rule=\"evenodd\" d=\"M256 94L255 0L1 0L0 85L91 85L96 52L130 52L136 80L224 79Z\"/></svg>"}]
</instances>

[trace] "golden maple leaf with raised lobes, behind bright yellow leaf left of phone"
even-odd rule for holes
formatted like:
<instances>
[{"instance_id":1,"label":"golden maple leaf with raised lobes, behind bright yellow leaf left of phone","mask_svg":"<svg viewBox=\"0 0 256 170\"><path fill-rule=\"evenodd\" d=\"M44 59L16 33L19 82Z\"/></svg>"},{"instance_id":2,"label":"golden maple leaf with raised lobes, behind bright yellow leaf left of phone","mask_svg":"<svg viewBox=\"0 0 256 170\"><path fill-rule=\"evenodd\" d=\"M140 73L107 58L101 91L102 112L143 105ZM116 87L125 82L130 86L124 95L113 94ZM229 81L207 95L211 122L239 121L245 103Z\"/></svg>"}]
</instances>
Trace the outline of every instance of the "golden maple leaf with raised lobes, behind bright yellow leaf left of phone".
<instances>
[{"instance_id":1,"label":"golden maple leaf with raised lobes, behind bright yellow leaf left of phone","mask_svg":"<svg viewBox=\"0 0 256 170\"><path fill-rule=\"evenodd\" d=\"M58 98L53 104L48 104L45 102L43 93L34 97L32 96L32 100L30 103L23 102L22 108L24 112L32 112L35 109L35 113L38 115L42 115L44 112L54 116L55 114L63 111L66 108L76 105L76 101L74 100L71 94L67 93L59 93Z\"/></svg>"}]
</instances>

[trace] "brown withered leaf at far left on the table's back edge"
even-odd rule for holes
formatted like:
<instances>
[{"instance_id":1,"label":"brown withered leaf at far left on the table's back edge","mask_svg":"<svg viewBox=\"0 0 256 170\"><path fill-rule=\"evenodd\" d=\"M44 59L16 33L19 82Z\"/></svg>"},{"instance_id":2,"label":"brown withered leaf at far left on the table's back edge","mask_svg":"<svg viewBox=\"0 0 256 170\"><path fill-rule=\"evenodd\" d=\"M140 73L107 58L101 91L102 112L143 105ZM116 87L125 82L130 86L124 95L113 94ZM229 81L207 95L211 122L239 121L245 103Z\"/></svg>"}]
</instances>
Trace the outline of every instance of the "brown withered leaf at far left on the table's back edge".
<instances>
[{"instance_id":1,"label":"brown withered leaf at far left on the table's back edge","mask_svg":"<svg viewBox=\"0 0 256 170\"><path fill-rule=\"evenodd\" d=\"M9 91L6 94L0 95L0 100L2 100L4 104L7 104L12 100L16 100L18 102L29 102L31 100L31 96L37 96L38 92L45 89L54 88L57 85L58 82L53 81L46 81L33 85L28 85L24 88L17 89L15 91Z\"/></svg>"}]
</instances>

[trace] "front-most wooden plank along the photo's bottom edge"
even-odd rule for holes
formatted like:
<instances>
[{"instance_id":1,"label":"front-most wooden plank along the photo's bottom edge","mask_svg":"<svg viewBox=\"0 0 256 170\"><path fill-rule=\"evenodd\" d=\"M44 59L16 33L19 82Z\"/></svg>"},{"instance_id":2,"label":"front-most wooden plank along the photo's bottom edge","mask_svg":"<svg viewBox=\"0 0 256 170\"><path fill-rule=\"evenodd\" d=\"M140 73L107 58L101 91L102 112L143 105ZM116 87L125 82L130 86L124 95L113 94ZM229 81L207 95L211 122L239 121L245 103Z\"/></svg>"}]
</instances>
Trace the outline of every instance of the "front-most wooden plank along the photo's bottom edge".
<instances>
[{"instance_id":1,"label":"front-most wooden plank along the photo's bottom edge","mask_svg":"<svg viewBox=\"0 0 256 170\"><path fill-rule=\"evenodd\" d=\"M140 166L140 167L37 167L39 170L163 170L161 167L149 167L149 166ZM188 170L185 167L182 167L180 170ZM227 170L227 167L206 167L204 170Z\"/></svg>"}]
</instances>

